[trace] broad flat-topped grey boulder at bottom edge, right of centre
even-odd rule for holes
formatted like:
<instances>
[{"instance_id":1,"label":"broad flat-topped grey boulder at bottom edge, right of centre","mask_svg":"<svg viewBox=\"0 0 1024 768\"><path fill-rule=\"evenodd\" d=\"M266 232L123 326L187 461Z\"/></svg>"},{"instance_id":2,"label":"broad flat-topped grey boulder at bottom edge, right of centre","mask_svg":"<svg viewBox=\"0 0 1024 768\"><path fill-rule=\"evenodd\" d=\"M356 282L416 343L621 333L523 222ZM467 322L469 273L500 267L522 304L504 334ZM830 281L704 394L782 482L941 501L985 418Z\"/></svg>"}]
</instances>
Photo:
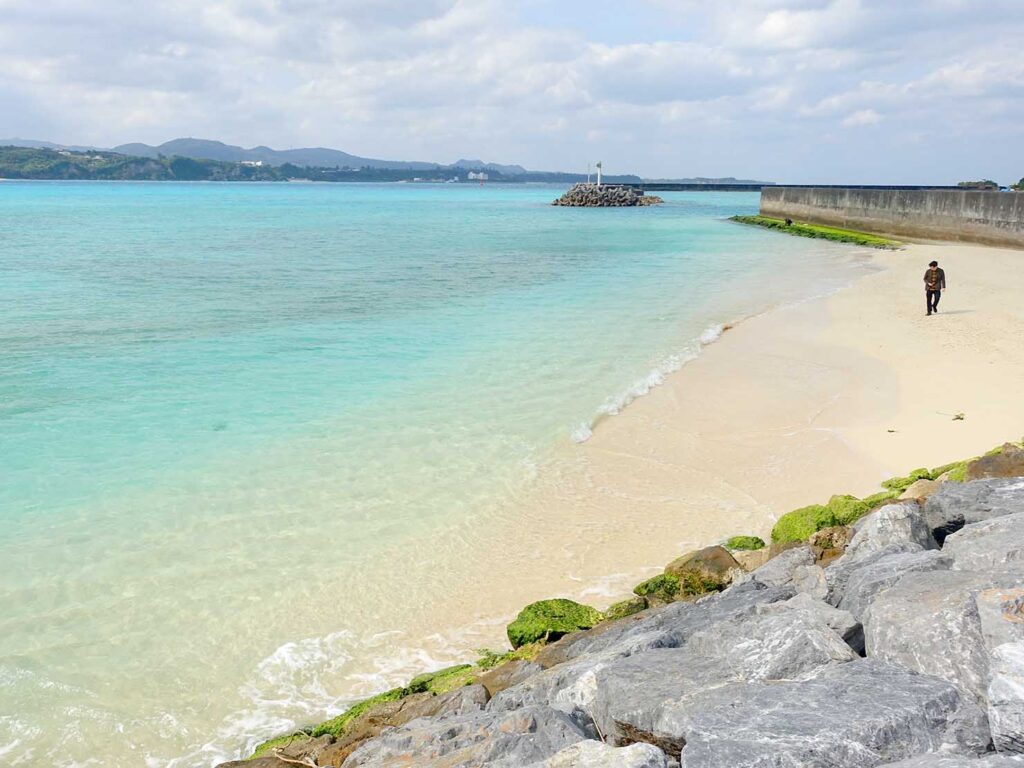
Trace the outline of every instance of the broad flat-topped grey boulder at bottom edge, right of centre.
<instances>
[{"instance_id":1,"label":"broad flat-topped grey boulder at bottom edge, right of centre","mask_svg":"<svg viewBox=\"0 0 1024 768\"><path fill-rule=\"evenodd\" d=\"M685 742L683 768L869 768L943 749L979 754L989 740L955 686L871 659L709 690L656 728Z\"/></svg>"}]
</instances>

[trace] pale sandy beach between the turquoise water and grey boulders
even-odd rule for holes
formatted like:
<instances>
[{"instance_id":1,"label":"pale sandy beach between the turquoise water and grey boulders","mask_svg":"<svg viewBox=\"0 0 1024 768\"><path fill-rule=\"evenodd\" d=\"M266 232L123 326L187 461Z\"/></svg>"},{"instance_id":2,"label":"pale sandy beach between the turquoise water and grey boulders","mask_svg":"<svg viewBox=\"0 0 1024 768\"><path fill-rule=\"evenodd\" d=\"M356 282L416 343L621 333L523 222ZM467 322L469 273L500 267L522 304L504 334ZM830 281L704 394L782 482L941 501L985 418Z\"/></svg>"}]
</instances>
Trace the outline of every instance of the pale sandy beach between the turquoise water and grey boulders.
<instances>
[{"instance_id":1,"label":"pale sandy beach between the turquoise water and grey boulders","mask_svg":"<svg viewBox=\"0 0 1024 768\"><path fill-rule=\"evenodd\" d=\"M979 264L969 272L966 262L979 256L999 268ZM685 551L734 535L767 541L775 519L792 509L836 493L867 496L911 465L963 459L1024 431L1008 426L1024 424L1024 407L1010 394L1024 383L1024 350L998 367L1008 392L1002 400L986 407L992 392L977 377L952 387L958 404L949 408L965 412L965 421L929 414L941 393L929 392L920 406L907 396L933 370L910 369L922 357L934 361L929 354L945 340L936 336L940 328L959 340L984 337L987 323L991 341L1013 346L1013 335L988 315L1007 310L1024 326L1019 310L1010 311L1013 290L992 293L993 286L1014 284L1004 280L1007 268L1024 278L1020 252L911 245L871 257L882 270L830 296L735 324L614 418L599 419L590 439L566 441L531 492L486 530L440 531L460 536L473 556L438 560L438 573L416 586L430 602L408 616L395 638L406 663L392 659L377 674L366 670L353 699L471 660L474 647L505 647L505 624L528 602L567 596L603 609ZM963 286L955 289L957 303L944 307L956 311L916 318L919 262L933 257L957 281L952 285ZM983 296L994 309L972 316L964 302ZM950 322L925 325L934 319ZM893 336L899 329L902 338ZM953 368L977 368L985 354L977 345L965 348ZM948 378L944 366L938 368ZM400 561L401 552L392 557ZM452 591L452 584L461 586ZM445 616L466 621L453 626L439 620ZM252 748L276 734L249 735Z\"/></svg>"}]
</instances>

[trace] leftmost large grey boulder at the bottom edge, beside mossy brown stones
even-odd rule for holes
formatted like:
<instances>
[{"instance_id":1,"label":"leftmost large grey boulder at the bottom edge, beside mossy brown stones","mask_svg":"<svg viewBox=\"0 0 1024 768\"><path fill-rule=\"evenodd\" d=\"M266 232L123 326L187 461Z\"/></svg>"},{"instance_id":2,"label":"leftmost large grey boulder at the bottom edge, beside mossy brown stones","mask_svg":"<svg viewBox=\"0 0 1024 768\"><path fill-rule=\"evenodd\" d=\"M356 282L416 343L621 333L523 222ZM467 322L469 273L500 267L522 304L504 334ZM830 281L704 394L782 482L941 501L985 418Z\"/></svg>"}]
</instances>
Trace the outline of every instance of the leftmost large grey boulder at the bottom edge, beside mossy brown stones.
<instances>
[{"instance_id":1,"label":"leftmost large grey boulder at the bottom edge, beside mossy brown stones","mask_svg":"<svg viewBox=\"0 0 1024 768\"><path fill-rule=\"evenodd\" d=\"M547 707L508 713L475 713L439 720L414 720L364 742L344 768L521 768L542 763L578 741L584 731Z\"/></svg>"}]
</instances>

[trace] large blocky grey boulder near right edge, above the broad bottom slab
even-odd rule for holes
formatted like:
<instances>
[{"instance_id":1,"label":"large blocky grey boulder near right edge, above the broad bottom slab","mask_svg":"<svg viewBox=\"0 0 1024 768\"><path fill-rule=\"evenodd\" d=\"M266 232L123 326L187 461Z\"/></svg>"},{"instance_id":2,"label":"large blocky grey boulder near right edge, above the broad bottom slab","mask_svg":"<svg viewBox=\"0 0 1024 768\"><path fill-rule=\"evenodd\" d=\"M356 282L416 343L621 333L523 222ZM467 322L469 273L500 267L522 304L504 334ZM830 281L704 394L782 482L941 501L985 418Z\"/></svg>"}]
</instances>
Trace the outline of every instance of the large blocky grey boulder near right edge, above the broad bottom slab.
<instances>
[{"instance_id":1,"label":"large blocky grey boulder near right edge, above the broad bottom slab","mask_svg":"<svg viewBox=\"0 0 1024 768\"><path fill-rule=\"evenodd\" d=\"M951 680L984 701L988 648L976 596L1018 581L1013 573L968 570L908 573L867 608L867 655Z\"/></svg>"}]
</instances>

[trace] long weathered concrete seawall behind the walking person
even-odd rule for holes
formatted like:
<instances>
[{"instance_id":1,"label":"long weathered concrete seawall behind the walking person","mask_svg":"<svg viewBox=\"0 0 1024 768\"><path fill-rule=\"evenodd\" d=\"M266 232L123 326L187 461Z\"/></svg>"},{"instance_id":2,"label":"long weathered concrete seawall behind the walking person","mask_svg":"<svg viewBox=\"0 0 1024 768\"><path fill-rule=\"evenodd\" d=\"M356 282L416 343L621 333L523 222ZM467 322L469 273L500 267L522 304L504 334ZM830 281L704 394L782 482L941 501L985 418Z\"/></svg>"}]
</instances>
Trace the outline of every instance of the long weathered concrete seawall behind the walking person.
<instances>
[{"instance_id":1,"label":"long weathered concrete seawall behind the walking person","mask_svg":"<svg viewBox=\"0 0 1024 768\"><path fill-rule=\"evenodd\" d=\"M761 214L909 239L1024 248L1024 193L766 186Z\"/></svg>"}]
</instances>

